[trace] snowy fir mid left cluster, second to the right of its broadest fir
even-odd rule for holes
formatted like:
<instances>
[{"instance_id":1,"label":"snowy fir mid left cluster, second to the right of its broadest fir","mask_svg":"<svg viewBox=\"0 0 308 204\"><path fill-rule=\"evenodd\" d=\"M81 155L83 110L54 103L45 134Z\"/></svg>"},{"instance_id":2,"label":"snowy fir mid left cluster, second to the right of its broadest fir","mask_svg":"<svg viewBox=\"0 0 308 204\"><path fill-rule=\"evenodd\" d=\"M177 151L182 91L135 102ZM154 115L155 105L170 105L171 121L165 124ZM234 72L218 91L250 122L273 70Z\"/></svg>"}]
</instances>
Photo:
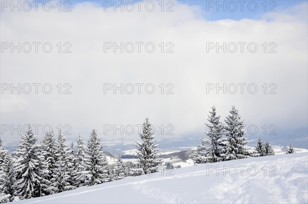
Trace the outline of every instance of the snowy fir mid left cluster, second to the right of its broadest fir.
<instances>
[{"instance_id":1,"label":"snowy fir mid left cluster, second to the right of its broadest fir","mask_svg":"<svg viewBox=\"0 0 308 204\"><path fill-rule=\"evenodd\" d=\"M60 130L58 135L57 153L55 154L56 171L51 178L53 191L55 193L75 189L75 187L71 186L69 182L73 163L69 161L69 155L71 154L71 151L68 149L68 145L65 144L65 140L66 139Z\"/></svg>"}]
</instances>

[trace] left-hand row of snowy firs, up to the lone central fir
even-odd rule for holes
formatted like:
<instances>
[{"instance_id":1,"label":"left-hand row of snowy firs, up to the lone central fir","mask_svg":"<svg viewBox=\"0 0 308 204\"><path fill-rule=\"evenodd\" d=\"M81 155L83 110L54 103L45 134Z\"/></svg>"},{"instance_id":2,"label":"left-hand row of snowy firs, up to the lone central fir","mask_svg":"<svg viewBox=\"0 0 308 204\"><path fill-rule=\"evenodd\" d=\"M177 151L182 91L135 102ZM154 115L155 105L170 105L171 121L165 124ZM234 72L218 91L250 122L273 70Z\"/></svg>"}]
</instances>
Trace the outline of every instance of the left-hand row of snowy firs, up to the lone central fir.
<instances>
[{"instance_id":1,"label":"left-hand row of snowy firs, up to the lone central fir","mask_svg":"<svg viewBox=\"0 0 308 204\"><path fill-rule=\"evenodd\" d=\"M143 123L140 137L141 141L136 142L138 162L130 174L121 157L115 164L108 164L95 129L87 144L81 136L76 145L67 144L61 131L57 138L53 131L48 132L36 143L37 136L29 125L18 142L14 158L4 149L0 138L0 203L157 172L161 159L148 119Z\"/></svg>"}]
</instances>

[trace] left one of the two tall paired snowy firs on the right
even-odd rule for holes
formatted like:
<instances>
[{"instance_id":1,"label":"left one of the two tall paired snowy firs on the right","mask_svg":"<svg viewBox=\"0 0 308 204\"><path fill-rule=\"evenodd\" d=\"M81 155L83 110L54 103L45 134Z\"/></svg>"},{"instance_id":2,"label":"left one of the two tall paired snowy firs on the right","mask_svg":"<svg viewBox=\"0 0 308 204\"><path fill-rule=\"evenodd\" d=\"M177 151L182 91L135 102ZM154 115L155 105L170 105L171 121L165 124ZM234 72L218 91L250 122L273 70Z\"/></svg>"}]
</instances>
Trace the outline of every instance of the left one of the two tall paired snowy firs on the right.
<instances>
[{"instance_id":1,"label":"left one of the two tall paired snowy firs on the right","mask_svg":"<svg viewBox=\"0 0 308 204\"><path fill-rule=\"evenodd\" d=\"M223 125L219 121L220 116L216 114L216 107L212 107L212 111L208 116L209 124L206 124L208 131L205 133L209 139L200 138L201 145L198 145L197 154L195 157L196 163L207 163L222 161L220 156L223 152L221 145L221 137L223 135Z\"/></svg>"}]
</instances>

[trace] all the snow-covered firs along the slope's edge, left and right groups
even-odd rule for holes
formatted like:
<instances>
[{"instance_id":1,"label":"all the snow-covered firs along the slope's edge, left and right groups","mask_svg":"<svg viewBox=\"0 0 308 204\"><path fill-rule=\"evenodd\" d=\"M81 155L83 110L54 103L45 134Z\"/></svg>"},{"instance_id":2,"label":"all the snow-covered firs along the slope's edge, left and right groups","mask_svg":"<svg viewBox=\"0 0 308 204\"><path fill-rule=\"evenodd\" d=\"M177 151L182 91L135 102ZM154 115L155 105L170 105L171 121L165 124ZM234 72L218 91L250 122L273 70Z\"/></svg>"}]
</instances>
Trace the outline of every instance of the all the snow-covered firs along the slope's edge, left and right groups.
<instances>
[{"instance_id":1,"label":"all the snow-covered firs along the slope's edge, left and right groups","mask_svg":"<svg viewBox=\"0 0 308 204\"><path fill-rule=\"evenodd\" d=\"M192 155L195 163L274 155L272 145L268 141L264 144L261 138L255 150L248 150L244 122L235 106L232 106L225 124L220 122L215 106L209 114L209 123L206 124L208 138L200 138L201 144ZM139 136L141 140L135 141L138 160L132 166L126 166L120 156L110 165L95 129L87 142L79 135L76 144L67 144L61 131L57 136L51 131L37 143L37 136L29 125L18 142L14 157L5 150L0 138L0 203L158 172L162 159L148 118ZM286 154L292 153L294 149L290 144Z\"/></svg>"}]
</instances>

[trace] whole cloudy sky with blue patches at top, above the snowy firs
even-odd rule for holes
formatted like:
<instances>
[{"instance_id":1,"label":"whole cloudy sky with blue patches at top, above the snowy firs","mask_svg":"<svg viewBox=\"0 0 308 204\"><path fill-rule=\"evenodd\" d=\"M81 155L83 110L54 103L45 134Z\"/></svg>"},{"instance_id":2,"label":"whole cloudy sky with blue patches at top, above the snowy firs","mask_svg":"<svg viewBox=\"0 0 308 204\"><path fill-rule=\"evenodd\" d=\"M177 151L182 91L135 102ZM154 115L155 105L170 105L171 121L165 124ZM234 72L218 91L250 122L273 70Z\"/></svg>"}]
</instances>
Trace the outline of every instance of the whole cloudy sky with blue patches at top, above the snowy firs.
<instances>
[{"instance_id":1,"label":"whole cloudy sky with blue patches at top, above the snowy firs","mask_svg":"<svg viewBox=\"0 0 308 204\"><path fill-rule=\"evenodd\" d=\"M158 139L199 138L213 105L222 122L235 105L256 137L307 129L307 2L267 1L265 12L263 1L243 11L216 3L121 11L113 1L42 1L25 11L21 1L18 11L1 1L3 141L32 124L40 138L51 126L131 142L146 117Z\"/></svg>"}]
</instances>

